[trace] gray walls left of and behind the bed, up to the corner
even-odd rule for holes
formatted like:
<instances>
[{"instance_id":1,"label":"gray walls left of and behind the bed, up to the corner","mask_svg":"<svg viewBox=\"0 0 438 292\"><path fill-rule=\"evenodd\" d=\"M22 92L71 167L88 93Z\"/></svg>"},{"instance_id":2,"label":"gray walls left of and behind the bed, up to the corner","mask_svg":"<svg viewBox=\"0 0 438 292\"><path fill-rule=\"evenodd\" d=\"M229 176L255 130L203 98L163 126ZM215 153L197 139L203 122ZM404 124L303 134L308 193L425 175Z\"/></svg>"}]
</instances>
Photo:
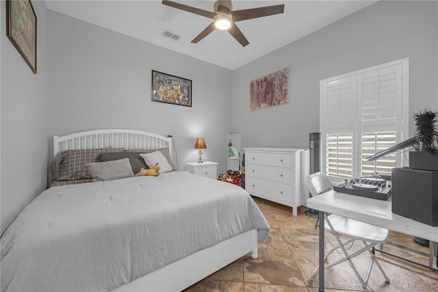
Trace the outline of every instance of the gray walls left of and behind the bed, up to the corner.
<instances>
[{"instance_id":1,"label":"gray walls left of and behind the bed, up to the corner","mask_svg":"<svg viewBox=\"0 0 438 292\"><path fill-rule=\"evenodd\" d=\"M2 233L46 188L55 134L99 128L171 134L179 169L197 160L195 138L203 137L204 160L226 169L231 71L32 3L37 75L1 34ZM192 107L151 101L152 69L192 80Z\"/></svg>"}]
</instances>

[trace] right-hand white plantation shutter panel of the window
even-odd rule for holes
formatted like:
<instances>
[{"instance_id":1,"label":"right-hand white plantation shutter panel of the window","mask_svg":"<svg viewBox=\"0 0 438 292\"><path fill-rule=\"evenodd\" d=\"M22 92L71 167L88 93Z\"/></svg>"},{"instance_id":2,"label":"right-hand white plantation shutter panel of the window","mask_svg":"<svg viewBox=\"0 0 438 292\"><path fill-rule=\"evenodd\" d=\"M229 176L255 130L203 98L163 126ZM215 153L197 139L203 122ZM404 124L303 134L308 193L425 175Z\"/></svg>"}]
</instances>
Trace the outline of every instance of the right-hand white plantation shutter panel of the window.
<instances>
[{"instance_id":1,"label":"right-hand white plantation shutter panel of the window","mask_svg":"<svg viewBox=\"0 0 438 292\"><path fill-rule=\"evenodd\" d=\"M397 142L397 127L401 124L402 64L387 66L357 75L358 133L361 156L358 175L391 173L396 167L396 156L370 162L369 156L383 151ZM398 135L400 136L400 135Z\"/></svg>"}]
</instances>

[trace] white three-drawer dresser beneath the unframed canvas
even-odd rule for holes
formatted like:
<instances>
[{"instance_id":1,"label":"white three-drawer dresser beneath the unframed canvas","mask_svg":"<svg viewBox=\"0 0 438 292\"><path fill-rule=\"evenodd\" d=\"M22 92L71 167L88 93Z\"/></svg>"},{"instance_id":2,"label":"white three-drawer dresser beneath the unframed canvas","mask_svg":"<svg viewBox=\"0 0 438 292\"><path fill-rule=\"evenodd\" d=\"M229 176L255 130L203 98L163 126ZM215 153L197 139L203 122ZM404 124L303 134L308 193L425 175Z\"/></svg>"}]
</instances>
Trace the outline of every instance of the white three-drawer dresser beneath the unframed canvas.
<instances>
[{"instance_id":1,"label":"white three-drawer dresser beneath the unframed canvas","mask_svg":"<svg viewBox=\"0 0 438 292\"><path fill-rule=\"evenodd\" d=\"M250 195L292 207L306 203L309 149L244 148L245 189Z\"/></svg>"}]
</instances>

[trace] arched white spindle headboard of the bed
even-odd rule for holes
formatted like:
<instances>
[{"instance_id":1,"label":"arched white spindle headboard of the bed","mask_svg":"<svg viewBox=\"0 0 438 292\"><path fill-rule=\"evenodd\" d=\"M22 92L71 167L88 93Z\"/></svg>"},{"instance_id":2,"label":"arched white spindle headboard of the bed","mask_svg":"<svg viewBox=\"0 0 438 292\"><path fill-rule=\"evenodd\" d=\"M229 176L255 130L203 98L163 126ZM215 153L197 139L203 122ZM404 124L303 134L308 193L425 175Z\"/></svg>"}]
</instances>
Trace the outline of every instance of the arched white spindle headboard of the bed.
<instances>
[{"instance_id":1,"label":"arched white spindle headboard of the bed","mask_svg":"<svg viewBox=\"0 0 438 292\"><path fill-rule=\"evenodd\" d=\"M68 149L123 147L125 149L169 148L172 157L172 138L139 130L104 129L53 136L53 157Z\"/></svg>"}]
</instances>

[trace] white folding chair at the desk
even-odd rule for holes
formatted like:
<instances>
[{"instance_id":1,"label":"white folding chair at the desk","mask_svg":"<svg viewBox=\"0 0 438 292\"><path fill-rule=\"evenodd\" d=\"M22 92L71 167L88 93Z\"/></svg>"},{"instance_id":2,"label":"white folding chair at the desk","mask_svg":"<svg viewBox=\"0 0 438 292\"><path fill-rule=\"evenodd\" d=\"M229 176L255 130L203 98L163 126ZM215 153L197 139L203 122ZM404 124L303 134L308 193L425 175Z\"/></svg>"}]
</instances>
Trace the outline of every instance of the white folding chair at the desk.
<instances>
[{"instance_id":1,"label":"white folding chair at the desk","mask_svg":"<svg viewBox=\"0 0 438 292\"><path fill-rule=\"evenodd\" d=\"M324 173L317 172L311 175L307 175L306 180L307 180L307 186L309 186L309 191L312 196L320 195L321 193L324 193L326 191L333 190L331 181L326 175L324 175ZM339 248L342 250L342 253L340 253L340 255L341 256L344 255L344 258L336 260L335 262L330 263L329 265L324 265L324 269L329 269L334 265L338 265L340 263L344 263L345 261L347 261L350 267L352 267L353 271L355 271L355 274L359 279L359 281L361 282L364 291L368 291L368 280L370 280L371 269L373 264L376 263L378 269L381 270L383 277L385 277L385 280L389 282L388 276L386 275L385 271L383 271L380 263L378 263L377 258L374 256L374 247L376 245L386 243L388 239L389 232L387 229L335 214L328 215L327 213L325 213L324 218L325 218L324 230L331 232L331 234L335 235L335 239L338 244L336 247L333 247L332 250L330 250L329 252L327 252L327 254L324 255L324 261L327 260L327 257L330 254L332 254ZM347 239L344 243L341 241L341 236ZM362 247L357 252L348 254L345 246L348 244L352 244L353 241L361 241L364 247ZM370 253L372 257L372 261L370 263L370 267L368 267L368 273L365 279L363 279L359 275L359 271L357 271L357 268L352 263L351 259L367 251ZM317 267L315 271L311 273L310 279L314 278L318 274L318 270L319 267Z\"/></svg>"}]
</instances>

